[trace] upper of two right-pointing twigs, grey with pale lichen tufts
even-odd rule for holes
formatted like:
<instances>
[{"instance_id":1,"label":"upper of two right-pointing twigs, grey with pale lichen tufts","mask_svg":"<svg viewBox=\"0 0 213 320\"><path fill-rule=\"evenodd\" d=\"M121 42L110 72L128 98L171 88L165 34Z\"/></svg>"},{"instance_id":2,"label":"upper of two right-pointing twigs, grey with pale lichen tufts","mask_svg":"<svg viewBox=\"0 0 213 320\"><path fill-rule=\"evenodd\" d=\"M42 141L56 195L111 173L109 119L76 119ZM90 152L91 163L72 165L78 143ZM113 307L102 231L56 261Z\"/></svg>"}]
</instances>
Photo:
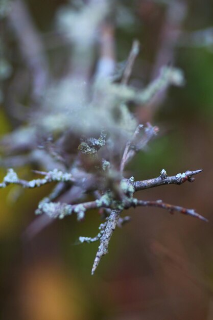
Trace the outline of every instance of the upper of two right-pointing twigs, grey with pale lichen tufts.
<instances>
[{"instance_id":1,"label":"upper of two right-pointing twigs, grey with pale lichen tufts","mask_svg":"<svg viewBox=\"0 0 213 320\"><path fill-rule=\"evenodd\" d=\"M176 175L168 177L165 170L162 169L161 175L159 177L148 179L148 180L135 181L133 182L133 186L135 188L135 191L139 191L139 190L149 189L149 188L158 187L162 185L171 185L171 184L181 185L185 181L193 182L195 180L193 175L198 174L202 171L203 171L202 169L195 170L195 171L187 170L182 174L178 173Z\"/></svg>"}]
</instances>

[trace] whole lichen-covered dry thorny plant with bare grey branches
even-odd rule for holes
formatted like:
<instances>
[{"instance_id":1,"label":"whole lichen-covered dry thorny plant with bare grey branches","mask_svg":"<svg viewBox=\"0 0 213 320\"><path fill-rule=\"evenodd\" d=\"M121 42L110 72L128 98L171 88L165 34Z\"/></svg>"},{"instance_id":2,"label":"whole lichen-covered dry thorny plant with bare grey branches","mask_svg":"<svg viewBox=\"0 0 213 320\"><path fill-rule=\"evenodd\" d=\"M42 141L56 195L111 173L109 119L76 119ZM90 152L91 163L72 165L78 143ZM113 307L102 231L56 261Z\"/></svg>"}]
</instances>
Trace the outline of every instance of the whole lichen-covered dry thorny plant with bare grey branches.
<instances>
[{"instance_id":1,"label":"whole lichen-covered dry thorny plant with bare grey branches","mask_svg":"<svg viewBox=\"0 0 213 320\"><path fill-rule=\"evenodd\" d=\"M202 170L168 176L162 169L158 177L142 181L125 177L128 162L146 149L159 130L150 123L138 123L129 104L135 108L156 106L170 85L184 84L184 77L178 68L163 65L146 87L139 90L128 85L139 43L133 42L125 65L117 71L111 9L109 1L90 0L86 5L79 1L76 8L67 5L58 11L57 32L71 57L65 75L59 78L49 71L44 44L25 4L21 0L11 2L6 17L30 75L27 99L31 109L29 112L21 105L26 99L22 93L16 105L18 112L11 116L20 125L2 140L6 155L2 166L10 169L0 187L13 184L32 189L56 182L35 212L52 219L76 214L80 221L88 210L97 209L102 218L98 235L79 238L81 243L100 242L92 274L108 252L116 226L129 221L128 216L121 217L124 210L157 207L206 221L192 209L134 197L144 189L192 182ZM97 43L99 60L92 73ZM10 102L15 98L10 97ZM25 164L36 165L34 172L42 177L23 180L11 169ZM86 201L87 196L93 200Z\"/></svg>"}]
</instances>

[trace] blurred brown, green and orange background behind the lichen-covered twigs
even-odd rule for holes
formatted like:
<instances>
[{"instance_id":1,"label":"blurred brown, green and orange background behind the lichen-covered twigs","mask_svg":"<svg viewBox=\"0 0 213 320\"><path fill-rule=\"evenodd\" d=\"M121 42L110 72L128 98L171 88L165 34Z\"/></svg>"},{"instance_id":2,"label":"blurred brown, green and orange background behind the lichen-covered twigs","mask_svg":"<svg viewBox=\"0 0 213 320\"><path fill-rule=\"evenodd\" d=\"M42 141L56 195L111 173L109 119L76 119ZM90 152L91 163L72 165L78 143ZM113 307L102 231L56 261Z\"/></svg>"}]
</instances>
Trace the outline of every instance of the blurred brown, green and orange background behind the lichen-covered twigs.
<instances>
[{"instance_id":1,"label":"blurred brown, green and orange background behind the lichen-covered twigs","mask_svg":"<svg viewBox=\"0 0 213 320\"><path fill-rule=\"evenodd\" d=\"M22 26L17 16L11 17L11 7L18 3L0 2L2 138L22 121L19 98L26 109L31 107L26 98L29 66L25 57L21 58L25 43L18 40L19 27L20 32L25 30L25 39L29 35L32 46L35 43L32 30ZM70 54L66 39L55 28L59 10L67 5L73 8L78 4L65 0L21 2L56 78L66 71ZM81 223L75 217L54 220L29 239L26 230L36 218L38 201L51 187L1 190L3 320L213 319L213 3L124 0L114 1L111 10L108 24L118 67L127 59L133 40L141 44L130 85L142 88L165 64L181 68L185 75L183 87L171 87L150 106L132 106L140 122L150 121L159 126L160 133L148 150L138 153L128 165L126 176L147 179L158 176L162 168L169 175L203 169L193 184L162 186L138 196L194 208L209 222L158 209L131 210L131 222L117 228L109 254L91 276L98 243L76 245L76 240L97 234L97 212L88 212ZM94 54L94 66L97 56ZM29 179L30 169L28 164L22 165L18 173ZM2 165L2 178L5 172Z\"/></svg>"}]
</instances>

